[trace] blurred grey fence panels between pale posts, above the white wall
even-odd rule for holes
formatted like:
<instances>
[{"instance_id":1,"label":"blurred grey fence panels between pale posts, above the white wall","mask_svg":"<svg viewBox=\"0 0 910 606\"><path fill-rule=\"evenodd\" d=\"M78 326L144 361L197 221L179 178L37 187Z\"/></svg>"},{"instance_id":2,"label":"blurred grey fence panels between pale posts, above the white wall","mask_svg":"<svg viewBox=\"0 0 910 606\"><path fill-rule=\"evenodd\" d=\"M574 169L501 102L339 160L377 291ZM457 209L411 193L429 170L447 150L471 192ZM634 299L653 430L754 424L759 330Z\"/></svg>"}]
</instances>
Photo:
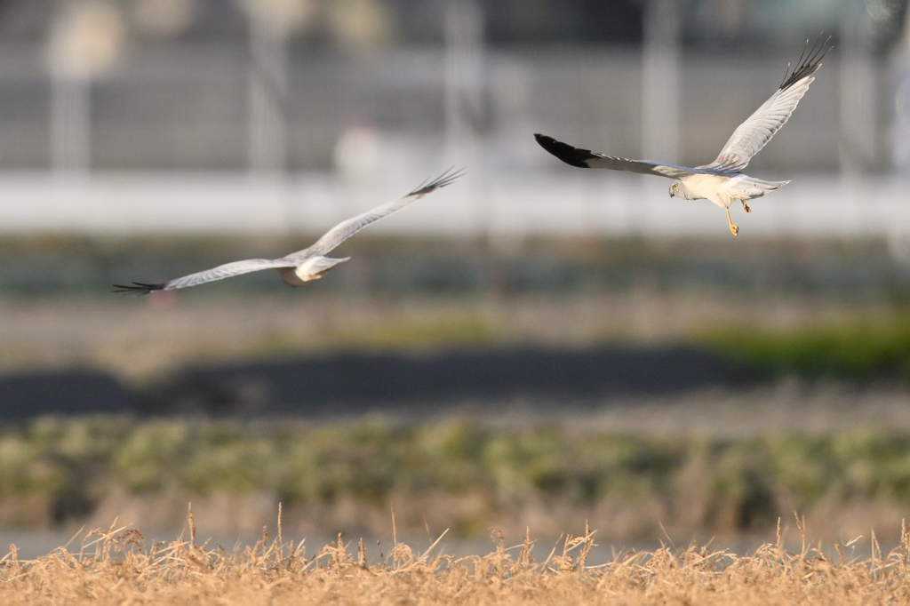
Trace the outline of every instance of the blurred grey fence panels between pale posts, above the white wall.
<instances>
[{"instance_id":1,"label":"blurred grey fence panels between pale posts, above the white wall","mask_svg":"<svg viewBox=\"0 0 910 606\"><path fill-rule=\"evenodd\" d=\"M782 50L773 56L682 58L680 161L696 165L716 156L733 128L773 93L802 49ZM46 72L43 53L4 48L3 54L0 167L47 169L52 166L53 114L70 110L54 106L56 84ZM459 100L447 106L448 89L460 88L466 77L450 76L450 60L446 52L433 50L289 57L287 102L277 98L273 108L287 112L279 117L287 119L288 168L410 168L425 156L427 146L450 143L447 112L470 113L467 126L481 142L485 164L497 169L548 166L547 157L528 145L535 131L642 156L640 53L490 51L476 75L476 107ZM836 170L841 131L855 129L857 122L871 130L870 159L889 164L892 70L886 64L870 66L871 73L863 75L863 83L871 86L865 103L850 116L840 116L841 88L860 84L844 82L852 74L847 67L841 69L836 55L825 59L792 122L775 137L773 153L756 157L753 171ZM248 168L250 130L262 126L255 122L262 116L253 111L249 89L258 86L260 76L236 46L157 48L126 56L90 85L87 166L101 171ZM273 93L284 96L280 90ZM857 115L863 112L872 117ZM343 157L346 151L355 157ZM440 150L433 152L437 163L444 162Z\"/></svg>"}]
</instances>

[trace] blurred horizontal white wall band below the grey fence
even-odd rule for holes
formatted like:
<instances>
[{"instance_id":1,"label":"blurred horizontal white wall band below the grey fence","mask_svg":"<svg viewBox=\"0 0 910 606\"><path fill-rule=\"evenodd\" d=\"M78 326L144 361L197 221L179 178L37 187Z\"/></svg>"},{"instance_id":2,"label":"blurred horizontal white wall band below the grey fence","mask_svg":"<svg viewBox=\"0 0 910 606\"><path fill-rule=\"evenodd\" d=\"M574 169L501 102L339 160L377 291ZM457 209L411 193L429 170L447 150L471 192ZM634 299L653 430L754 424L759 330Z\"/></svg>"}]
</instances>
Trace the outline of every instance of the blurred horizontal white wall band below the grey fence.
<instances>
[{"instance_id":1,"label":"blurred horizontal white wall band below the grey fence","mask_svg":"<svg viewBox=\"0 0 910 606\"><path fill-rule=\"evenodd\" d=\"M318 234L400 197L434 173L365 181L322 173L287 179L245 175L120 175L51 180L0 176L0 233L92 235ZM897 177L795 174L793 182L731 207L740 237L889 237L910 241L910 203ZM482 174L482 221L462 181L370 227L374 234L525 237L732 237L707 200L671 199L669 180L607 171Z\"/></svg>"}]
</instances>

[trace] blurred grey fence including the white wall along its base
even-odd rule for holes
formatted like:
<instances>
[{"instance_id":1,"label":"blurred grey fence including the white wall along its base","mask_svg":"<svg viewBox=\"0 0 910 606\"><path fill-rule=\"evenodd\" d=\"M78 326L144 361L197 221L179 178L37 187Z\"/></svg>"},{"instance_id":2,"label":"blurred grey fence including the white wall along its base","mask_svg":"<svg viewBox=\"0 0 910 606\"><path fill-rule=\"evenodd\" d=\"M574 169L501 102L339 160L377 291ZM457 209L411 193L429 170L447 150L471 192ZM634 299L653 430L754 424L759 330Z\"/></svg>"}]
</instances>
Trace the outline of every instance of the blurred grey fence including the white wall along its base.
<instances>
[{"instance_id":1,"label":"blurred grey fence including the white wall along its base","mask_svg":"<svg viewBox=\"0 0 910 606\"><path fill-rule=\"evenodd\" d=\"M681 163L713 159L800 49L786 50L682 56L673 79L678 118L669 126L678 131ZM3 54L6 232L319 231L449 165L469 170L457 195L447 192L448 199L383 227L725 231L710 204L670 203L669 182L581 175L531 138L543 132L641 157L653 128L642 110L646 66L632 50L499 50L473 63L444 49L291 54L285 81L271 80L237 46L162 46L127 55L90 81L84 106L60 101L43 53L10 47ZM888 177L900 137L893 103L899 61L864 64L862 77L854 64L826 58L794 117L755 157L750 174L794 183L756 202L743 234L910 232L900 186ZM864 86L861 98L857 86ZM71 124L79 120L82 127ZM66 133L82 137L81 152ZM264 158L270 146L278 151ZM69 159L61 167L55 157Z\"/></svg>"}]
</instances>

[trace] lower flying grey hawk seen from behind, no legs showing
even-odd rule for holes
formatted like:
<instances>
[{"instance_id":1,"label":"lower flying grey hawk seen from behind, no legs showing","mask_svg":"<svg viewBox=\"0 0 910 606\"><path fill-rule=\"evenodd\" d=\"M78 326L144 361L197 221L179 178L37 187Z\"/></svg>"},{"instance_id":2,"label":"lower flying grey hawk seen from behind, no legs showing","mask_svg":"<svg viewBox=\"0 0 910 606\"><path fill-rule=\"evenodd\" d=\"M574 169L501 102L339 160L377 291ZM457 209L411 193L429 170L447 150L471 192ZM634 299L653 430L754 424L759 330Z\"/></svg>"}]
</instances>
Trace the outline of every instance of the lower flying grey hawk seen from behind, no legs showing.
<instances>
[{"instance_id":1,"label":"lower flying grey hawk seen from behind, no legs showing","mask_svg":"<svg viewBox=\"0 0 910 606\"><path fill-rule=\"evenodd\" d=\"M440 187L446 187L463 175L463 171L452 171L450 168L439 178L434 179L429 184L421 185L405 197L399 198L381 207L373 208L362 215L349 218L342 221L337 226L332 227L326 232L325 236L311 247L298 250L287 257L282 258L248 258L243 261L234 261L225 265L219 265L217 268L200 271L196 274L190 274L183 278L175 278L162 282L160 284L145 284L142 282L133 282L132 286L123 286L115 284L114 292L135 292L141 295L147 295L153 290L174 290L175 288L188 288L214 282L224 278L232 278L241 274L248 274L252 271L261 269L278 269L278 276L288 286L303 286L305 282L322 278L329 269L334 268L339 263L349 259L346 258L329 258L329 254L334 248L359 232L370 223L379 221L380 218L389 217L392 213L397 213L404 207L410 206L420 200L421 197L436 191Z\"/></svg>"}]
</instances>

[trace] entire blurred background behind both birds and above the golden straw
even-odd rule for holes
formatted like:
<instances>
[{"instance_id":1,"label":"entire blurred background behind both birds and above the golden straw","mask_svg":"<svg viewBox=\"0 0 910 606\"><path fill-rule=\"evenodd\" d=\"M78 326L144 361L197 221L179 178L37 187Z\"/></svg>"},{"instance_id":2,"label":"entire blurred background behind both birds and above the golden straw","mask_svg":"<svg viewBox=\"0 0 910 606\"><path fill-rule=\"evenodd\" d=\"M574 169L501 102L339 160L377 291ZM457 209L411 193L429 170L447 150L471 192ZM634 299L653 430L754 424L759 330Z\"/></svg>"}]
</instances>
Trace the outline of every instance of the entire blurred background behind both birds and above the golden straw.
<instances>
[{"instance_id":1,"label":"entire blurred background behind both birds and above the golden straw","mask_svg":"<svg viewBox=\"0 0 910 606\"><path fill-rule=\"evenodd\" d=\"M193 500L222 537L280 501L321 536L385 536L391 506L461 540L735 542L794 510L896 540L908 24L905 0L0 0L3 532L180 528ZM532 138L708 163L829 35L747 171L793 182L733 209L739 237ZM108 292L287 254L450 166L306 288Z\"/></svg>"}]
</instances>

